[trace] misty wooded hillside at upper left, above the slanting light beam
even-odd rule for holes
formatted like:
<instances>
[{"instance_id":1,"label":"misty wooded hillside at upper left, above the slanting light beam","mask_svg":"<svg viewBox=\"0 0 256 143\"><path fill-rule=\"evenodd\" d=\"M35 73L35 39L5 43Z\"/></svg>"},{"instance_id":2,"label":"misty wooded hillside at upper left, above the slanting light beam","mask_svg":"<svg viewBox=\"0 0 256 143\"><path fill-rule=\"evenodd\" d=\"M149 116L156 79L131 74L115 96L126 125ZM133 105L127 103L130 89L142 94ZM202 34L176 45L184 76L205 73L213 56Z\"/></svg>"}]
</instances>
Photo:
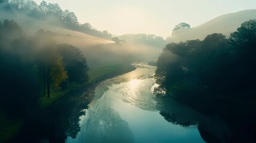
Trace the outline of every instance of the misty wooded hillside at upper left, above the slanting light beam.
<instances>
[{"instance_id":1,"label":"misty wooded hillside at upper left, above the slanting light beam","mask_svg":"<svg viewBox=\"0 0 256 143\"><path fill-rule=\"evenodd\" d=\"M7 18L16 20L19 23L19 20L23 20L23 18L31 18L33 22L29 22L29 24L32 26L30 27L32 29L37 26L35 22L41 22L50 26L86 33L98 38L112 39L111 33L107 32L107 30L99 31L89 23L79 23L75 13L69 10L62 10L57 3L47 4L46 1L42 1L41 4L37 5L32 0L1 0L0 20L2 21ZM22 25L22 23L20 24Z\"/></svg>"}]
</instances>

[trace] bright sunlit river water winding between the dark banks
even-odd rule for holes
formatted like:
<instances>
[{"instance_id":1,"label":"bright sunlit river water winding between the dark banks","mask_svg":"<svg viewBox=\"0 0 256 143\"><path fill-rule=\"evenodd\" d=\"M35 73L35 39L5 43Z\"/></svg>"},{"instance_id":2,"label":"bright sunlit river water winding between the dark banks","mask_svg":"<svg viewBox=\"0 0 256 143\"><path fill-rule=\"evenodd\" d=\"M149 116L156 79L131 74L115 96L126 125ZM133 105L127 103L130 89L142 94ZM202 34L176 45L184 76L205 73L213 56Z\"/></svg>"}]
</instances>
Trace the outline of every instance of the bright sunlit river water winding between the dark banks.
<instances>
[{"instance_id":1,"label":"bright sunlit river water winding between the dark banks","mask_svg":"<svg viewBox=\"0 0 256 143\"><path fill-rule=\"evenodd\" d=\"M156 97L156 67L146 63L132 66L137 69L106 80L95 89L95 99L80 117L80 132L66 142L204 142L197 123L207 117L166 100L168 97ZM218 129L214 130L218 120L205 121L204 125L218 135Z\"/></svg>"}]
</instances>

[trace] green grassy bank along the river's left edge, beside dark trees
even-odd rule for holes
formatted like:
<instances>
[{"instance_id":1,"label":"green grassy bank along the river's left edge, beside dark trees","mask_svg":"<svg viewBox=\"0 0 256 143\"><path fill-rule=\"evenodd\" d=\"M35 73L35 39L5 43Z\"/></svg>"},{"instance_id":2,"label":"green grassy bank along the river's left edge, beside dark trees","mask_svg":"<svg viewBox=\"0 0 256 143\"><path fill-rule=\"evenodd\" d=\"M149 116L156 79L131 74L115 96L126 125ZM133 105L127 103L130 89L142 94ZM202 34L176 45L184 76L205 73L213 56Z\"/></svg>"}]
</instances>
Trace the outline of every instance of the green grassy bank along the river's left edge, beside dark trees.
<instances>
[{"instance_id":1,"label":"green grassy bank along the river's left edge, beside dark trees","mask_svg":"<svg viewBox=\"0 0 256 143\"><path fill-rule=\"evenodd\" d=\"M71 87L68 89L67 93L63 93L62 91L57 91L55 93L52 93L52 97L47 98L43 97L43 99L40 99L40 109L50 107L52 104L56 104L59 100L65 99L65 97L74 97L73 92L77 92L77 94L82 97L85 97L86 100L92 100L93 98L92 94L95 88L104 80L110 79L115 76L119 76L124 73L128 73L132 70L135 70L136 68L134 66L131 66L131 64L115 64L115 65L110 65L106 67L99 67L95 69L91 69L88 71L88 76L89 76L89 83L86 83L84 85L79 85L78 88L76 88L75 85L73 88ZM71 96L70 96L71 94ZM77 97L76 98L80 98ZM74 100L74 99L73 99ZM79 102L81 100L77 100ZM43 103L42 103L43 102Z\"/></svg>"}]
</instances>

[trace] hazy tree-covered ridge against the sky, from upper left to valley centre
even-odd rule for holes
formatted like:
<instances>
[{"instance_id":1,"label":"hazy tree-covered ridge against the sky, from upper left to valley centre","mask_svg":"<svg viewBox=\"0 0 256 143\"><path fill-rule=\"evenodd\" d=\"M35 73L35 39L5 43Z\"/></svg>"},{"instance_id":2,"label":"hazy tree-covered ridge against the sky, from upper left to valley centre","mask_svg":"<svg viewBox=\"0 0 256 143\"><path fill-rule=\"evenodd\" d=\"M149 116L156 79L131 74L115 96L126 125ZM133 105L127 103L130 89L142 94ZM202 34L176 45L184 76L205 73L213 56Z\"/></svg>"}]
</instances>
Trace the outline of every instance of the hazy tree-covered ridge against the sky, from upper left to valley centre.
<instances>
[{"instance_id":1,"label":"hazy tree-covered ridge against the sky, from upper left to valley centre","mask_svg":"<svg viewBox=\"0 0 256 143\"><path fill-rule=\"evenodd\" d=\"M92 27L90 23L80 24L76 14L73 12L62 10L58 4L47 4L46 1L42 1L40 5L37 5L34 1L10 1L6 2L6 5L8 5L7 7L10 8L10 10L23 13L37 20L49 21L53 26L61 26L115 42L137 42L146 45L156 45L158 48L166 44L164 38L156 35L127 34L122 36L113 36L107 30L98 31Z\"/></svg>"}]
</instances>

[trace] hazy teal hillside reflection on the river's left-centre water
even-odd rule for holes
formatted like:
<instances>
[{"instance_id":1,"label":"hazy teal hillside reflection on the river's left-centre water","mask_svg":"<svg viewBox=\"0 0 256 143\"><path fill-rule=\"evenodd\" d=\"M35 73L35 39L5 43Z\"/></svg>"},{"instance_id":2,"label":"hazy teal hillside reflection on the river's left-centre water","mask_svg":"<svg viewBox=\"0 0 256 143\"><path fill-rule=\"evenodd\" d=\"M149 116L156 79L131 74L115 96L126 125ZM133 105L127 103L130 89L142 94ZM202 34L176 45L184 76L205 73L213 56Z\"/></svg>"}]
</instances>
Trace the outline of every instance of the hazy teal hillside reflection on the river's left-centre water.
<instances>
[{"instance_id":1,"label":"hazy teal hillside reflection on the river's left-centre water","mask_svg":"<svg viewBox=\"0 0 256 143\"><path fill-rule=\"evenodd\" d=\"M81 117L80 133L66 142L133 142L128 123L112 108L113 98L106 94L111 85L112 80L107 80L96 88L94 101Z\"/></svg>"}]
</instances>

